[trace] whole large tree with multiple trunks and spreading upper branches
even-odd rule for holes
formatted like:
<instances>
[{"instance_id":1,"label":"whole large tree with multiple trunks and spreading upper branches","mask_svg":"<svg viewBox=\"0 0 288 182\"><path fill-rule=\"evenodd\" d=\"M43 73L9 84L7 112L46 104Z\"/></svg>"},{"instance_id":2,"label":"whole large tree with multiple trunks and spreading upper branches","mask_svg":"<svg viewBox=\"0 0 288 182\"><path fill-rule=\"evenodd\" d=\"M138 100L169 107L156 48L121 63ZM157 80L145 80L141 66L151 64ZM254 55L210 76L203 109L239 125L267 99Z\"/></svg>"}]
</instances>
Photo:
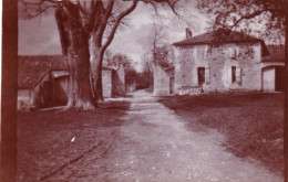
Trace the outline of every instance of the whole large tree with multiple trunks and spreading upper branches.
<instances>
[{"instance_id":1,"label":"whole large tree with multiple trunks and spreading upper branches","mask_svg":"<svg viewBox=\"0 0 288 182\"><path fill-rule=\"evenodd\" d=\"M62 53L69 67L66 108L93 109L102 96L102 65L105 50L123 19L138 2L168 6L173 12L178 0L20 0L29 17L55 10Z\"/></svg>"}]
</instances>

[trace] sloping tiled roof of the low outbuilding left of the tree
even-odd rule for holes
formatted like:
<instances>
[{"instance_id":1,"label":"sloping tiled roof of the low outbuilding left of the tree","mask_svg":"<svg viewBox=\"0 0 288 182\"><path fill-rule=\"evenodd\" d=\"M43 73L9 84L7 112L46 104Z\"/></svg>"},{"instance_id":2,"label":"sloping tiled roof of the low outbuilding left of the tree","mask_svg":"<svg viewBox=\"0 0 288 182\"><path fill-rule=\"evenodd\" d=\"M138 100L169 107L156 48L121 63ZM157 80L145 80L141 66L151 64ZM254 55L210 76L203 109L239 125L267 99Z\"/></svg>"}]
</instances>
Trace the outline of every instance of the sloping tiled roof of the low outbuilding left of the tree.
<instances>
[{"instance_id":1,"label":"sloping tiled roof of the low outbuilding left of the tree","mask_svg":"<svg viewBox=\"0 0 288 182\"><path fill-rule=\"evenodd\" d=\"M63 56L19 56L18 87L32 88L45 76L50 69L66 69Z\"/></svg>"}]
</instances>

